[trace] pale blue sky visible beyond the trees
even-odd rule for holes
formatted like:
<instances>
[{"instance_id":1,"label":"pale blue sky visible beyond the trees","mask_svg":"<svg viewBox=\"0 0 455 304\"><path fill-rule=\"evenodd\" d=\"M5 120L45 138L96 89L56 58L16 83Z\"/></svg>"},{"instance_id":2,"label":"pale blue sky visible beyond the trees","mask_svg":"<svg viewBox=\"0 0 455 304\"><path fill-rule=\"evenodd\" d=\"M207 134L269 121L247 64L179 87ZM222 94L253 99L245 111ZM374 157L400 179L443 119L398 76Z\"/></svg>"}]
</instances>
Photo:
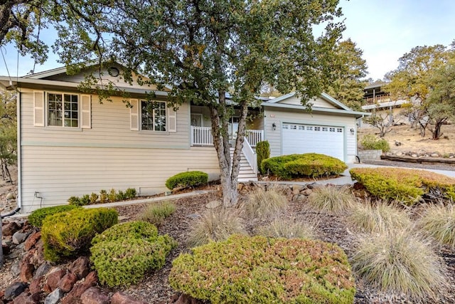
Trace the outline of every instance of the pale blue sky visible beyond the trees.
<instances>
[{"instance_id":1,"label":"pale blue sky visible beyond the trees","mask_svg":"<svg viewBox=\"0 0 455 304\"><path fill-rule=\"evenodd\" d=\"M363 50L367 61L367 78L383 79L395 70L398 59L416 46L449 46L455 39L454 0L340 0L346 31ZM41 31L46 43L53 43L55 32ZM50 49L51 50L51 49ZM0 75L21 76L30 70L41 72L61 66L58 56L49 54L43 65L34 65L30 57L19 58L13 46L2 48ZM6 61L6 65L4 62ZM8 68L8 70L6 69Z\"/></svg>"}]
</instances>

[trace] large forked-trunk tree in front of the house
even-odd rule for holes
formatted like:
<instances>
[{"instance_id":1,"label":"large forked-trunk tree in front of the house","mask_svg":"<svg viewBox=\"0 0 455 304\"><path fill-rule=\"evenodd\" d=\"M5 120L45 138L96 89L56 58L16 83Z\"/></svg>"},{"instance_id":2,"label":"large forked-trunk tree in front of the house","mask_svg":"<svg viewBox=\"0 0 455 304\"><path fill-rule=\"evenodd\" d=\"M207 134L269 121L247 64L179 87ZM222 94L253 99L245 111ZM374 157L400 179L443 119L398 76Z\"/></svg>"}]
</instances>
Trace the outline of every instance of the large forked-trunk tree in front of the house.
<instances>
[{"instance_id":1,"label":"large forked-trunk tree in front of the house","mask_svg":"<svg viewBox=\"0 0 455 304\"><path fill-rule=\"evenodd\" d=\"M333 47L344 26L338 0L292 1L112 1L91 19L60 25L55 50L78 68L87 58L119 61L145 75L145 85L171 85L168 100L205 105L220 164L225 206L237 202L237 176L245 119L264 84L282 93L296 90L302 103L321 94L331 78ZM110 11L109 11L110 8ZM325 25L319 37L313 25ZM75 43L77 41L77 43ZM86 88L95 84L87 78ZM230 101L226 93L230 93ZM153 98L151 93L150 98ZM231 162L228 122L240 121Z\"/></svg>"}]
</instances>

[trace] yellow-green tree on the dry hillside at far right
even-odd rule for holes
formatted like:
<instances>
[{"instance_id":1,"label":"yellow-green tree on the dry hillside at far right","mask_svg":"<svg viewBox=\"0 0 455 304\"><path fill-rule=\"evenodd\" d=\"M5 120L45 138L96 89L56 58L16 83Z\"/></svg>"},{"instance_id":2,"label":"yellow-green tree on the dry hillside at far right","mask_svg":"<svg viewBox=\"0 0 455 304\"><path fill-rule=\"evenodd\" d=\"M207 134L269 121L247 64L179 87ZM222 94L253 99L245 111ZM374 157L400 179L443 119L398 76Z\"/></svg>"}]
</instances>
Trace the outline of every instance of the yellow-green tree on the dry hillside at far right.
<instances>
[{"instance_id":1,"label":"yellow-green tree on the dry hillside at far right","mask_svg":"<svg viewBox=\"0 0 455 304\"><path fill-rule=\"evenodd\" d=\"M449 58L446 48L440 44L436 46L417 46L399 59L396 70L387 73L390 83L384 90L390 92L393 99L405 99L410 103L404 114L417 122L420 134L425 136L429 122L433 121L436 110L429 111L429 93L434 82L432 74L443 66ZM438 137L439 138L439 137ZM434 138L436 139L436 138Z\"/></svg>"}]
</instances>

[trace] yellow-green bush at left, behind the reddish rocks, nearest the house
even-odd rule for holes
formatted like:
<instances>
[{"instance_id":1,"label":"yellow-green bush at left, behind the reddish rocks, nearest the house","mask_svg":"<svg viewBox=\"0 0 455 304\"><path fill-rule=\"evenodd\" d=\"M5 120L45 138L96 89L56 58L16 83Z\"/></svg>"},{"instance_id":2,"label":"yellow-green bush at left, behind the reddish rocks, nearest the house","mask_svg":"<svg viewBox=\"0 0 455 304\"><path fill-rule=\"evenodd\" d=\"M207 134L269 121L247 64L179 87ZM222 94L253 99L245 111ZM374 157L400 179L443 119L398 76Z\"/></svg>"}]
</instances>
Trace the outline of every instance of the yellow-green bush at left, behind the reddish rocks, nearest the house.
<instances>
[{"instance_id":1,"label":"yellow-green bush at left, behind the reddish rocks, nearest the house","mask_svg":"<svg viewBox=\"0 0 455 304\"><path fill-rule=\"evenodd\" d=\"M117 217L117 211L106 208L78 208L46 217L41 229L45 259L59 261L85 253L93 237L117 224Z\"/></svg>"}]
</instances>

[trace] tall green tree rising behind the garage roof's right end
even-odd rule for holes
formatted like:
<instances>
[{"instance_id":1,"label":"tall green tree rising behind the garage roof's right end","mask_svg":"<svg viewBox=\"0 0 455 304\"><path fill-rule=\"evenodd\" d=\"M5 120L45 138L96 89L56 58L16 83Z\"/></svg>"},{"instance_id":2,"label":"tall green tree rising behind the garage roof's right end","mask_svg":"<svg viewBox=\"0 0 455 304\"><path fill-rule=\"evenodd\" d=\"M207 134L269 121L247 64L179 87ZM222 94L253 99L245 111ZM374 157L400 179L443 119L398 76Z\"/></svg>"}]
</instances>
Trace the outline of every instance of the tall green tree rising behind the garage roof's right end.
<instances>
[{"instance_id":1,"label":"tall green tree rising behind the garage roof's right end","mask_svg":"<svg viewBox=\"0 0 455 304\"><path fill-rule=\"evenodd\" d=\"M326 92L353 110L362 110L363 89L368 84L361 80L367 75L367 63L363 51L350 39L336 46L336 62L333 65L333 82Z\"/></svg>"}]
</instances>

